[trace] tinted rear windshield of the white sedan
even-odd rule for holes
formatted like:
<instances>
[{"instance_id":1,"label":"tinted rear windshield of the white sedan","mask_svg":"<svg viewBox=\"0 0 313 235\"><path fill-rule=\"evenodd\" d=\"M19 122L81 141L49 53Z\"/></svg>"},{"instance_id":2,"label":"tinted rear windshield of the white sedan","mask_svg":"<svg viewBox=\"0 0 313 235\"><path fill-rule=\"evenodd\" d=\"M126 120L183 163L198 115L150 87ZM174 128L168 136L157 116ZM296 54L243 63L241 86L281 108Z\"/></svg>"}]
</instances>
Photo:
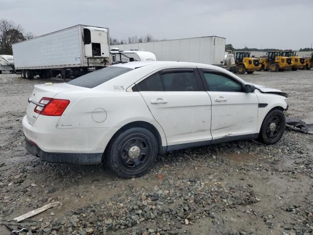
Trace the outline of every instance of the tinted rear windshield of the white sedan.
<instances>
[{"instance_id":1,"label":"tinted rear windshield of the white sedan","mask_svg":"<svg viewBox=\"0 0 313 235\"><path fill-rule=\"evenodd\" d=\"M78 87L94 88L111 80L114 77L117 77L125 72L129 72L132 70L133 69L125 67L109 66L101 70L93 71L81 77L75 78L67 83Z\"/></svg>"}]
</instances>

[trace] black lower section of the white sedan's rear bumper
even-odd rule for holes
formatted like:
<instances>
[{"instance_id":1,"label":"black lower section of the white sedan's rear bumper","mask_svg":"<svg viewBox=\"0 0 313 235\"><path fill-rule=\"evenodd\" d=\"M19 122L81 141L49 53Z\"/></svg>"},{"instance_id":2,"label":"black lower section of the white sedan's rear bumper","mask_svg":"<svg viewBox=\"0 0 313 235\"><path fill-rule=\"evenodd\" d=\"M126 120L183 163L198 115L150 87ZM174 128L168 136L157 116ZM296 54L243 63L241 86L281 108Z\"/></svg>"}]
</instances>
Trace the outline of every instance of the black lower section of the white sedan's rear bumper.
<instances>
[{"instance_id":1,"label":"black lower section of the white sedan's rear bumper","mask_svg":"<svg viewBox=\"0 0 313 235\"><path fill-rule=\"evenodd\" d=\"M42 161L50 163L68 164L100 164L102 153L50 153L40 149L34 142L25 138L26 150L39 157Z\"/></svg>"}]
</instances>

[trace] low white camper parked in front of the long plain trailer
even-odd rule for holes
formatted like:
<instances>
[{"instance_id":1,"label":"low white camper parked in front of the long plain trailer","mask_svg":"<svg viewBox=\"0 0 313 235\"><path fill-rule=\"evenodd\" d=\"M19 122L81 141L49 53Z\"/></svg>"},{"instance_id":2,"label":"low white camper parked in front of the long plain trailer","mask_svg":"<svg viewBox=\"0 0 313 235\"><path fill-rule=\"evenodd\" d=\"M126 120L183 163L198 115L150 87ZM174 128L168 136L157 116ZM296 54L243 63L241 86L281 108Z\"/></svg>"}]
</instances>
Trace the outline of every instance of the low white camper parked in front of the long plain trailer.
<instances>
[{"instance_id":1,"label":"low white camper parked in front of the long plain trailer","mask_svg":"<svg viewBox=\"0 0 313 235\"><path fill-rule=\"evenodd\" d=\"M112 64L127 63L133 61L157 61L156 55L150 51L120 50L111 48L110 60Z\"/></svg>"}]
</instances>

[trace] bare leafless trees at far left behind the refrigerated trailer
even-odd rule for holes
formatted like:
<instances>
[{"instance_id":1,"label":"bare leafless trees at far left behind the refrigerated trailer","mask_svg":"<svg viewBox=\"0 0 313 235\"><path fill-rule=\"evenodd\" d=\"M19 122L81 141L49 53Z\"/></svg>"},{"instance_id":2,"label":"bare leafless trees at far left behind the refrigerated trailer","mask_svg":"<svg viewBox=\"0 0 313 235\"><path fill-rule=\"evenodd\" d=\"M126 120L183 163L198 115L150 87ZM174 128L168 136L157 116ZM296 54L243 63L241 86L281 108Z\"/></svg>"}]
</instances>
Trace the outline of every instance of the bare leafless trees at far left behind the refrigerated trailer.
<instances>
[{"instance_id":1,"label":"bare leafless trees at far left behind the refrigerated trailer","mask_svg":"<svg viewBox=\"0 0 313 235\"><path fill-rule=\"evenodd\" d=\"M31 32L24 32L20 24L0 20L0 54L13 55L12 44L33 38Z\"/></svg>"}]
</instances>

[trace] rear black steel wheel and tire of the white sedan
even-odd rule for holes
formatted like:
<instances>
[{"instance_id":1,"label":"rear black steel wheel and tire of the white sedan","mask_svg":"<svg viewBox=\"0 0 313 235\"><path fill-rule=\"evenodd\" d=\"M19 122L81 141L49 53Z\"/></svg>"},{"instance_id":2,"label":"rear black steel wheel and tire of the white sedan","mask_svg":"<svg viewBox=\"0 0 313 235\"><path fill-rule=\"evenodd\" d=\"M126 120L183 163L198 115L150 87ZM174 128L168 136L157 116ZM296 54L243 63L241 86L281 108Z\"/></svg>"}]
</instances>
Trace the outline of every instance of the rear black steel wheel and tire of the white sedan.
<instances>
[{"instance_id":1,"label":"rear black steel wheel and tire of the white sedan","mask_svg":"<svg viewBox=\"0 0 313 235\"><path fill-rule=\"evenodd\" d=\"M145 128L134 127L113 137L106 152L106 164L119 177L134 178L152 168L157 154L156 137Z\"/></svg>"}]
</instances>

